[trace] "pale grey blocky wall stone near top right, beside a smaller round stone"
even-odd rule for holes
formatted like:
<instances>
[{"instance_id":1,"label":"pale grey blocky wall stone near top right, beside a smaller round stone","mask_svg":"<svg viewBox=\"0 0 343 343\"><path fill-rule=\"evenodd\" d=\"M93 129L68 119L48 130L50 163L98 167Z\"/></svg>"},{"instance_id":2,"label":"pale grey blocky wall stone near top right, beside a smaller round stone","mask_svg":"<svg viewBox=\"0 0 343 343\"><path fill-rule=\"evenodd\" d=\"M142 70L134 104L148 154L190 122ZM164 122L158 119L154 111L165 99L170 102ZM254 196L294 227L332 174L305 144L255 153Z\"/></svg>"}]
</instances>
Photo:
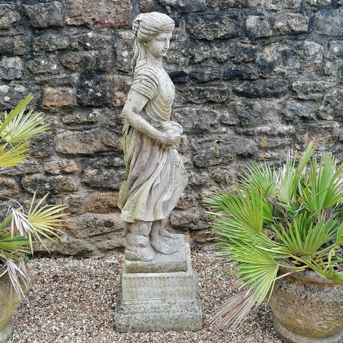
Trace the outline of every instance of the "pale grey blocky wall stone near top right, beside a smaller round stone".
<instances>
[{"instance_id":1,"label":"pale grey blocky wall stone near top right, beside a smaller round stone","mask_svg":"<svg viewBox=\"0 0 343 343\"><path fill-rule=\"evenodd\" d=\"M298 13L281 12L274 18L272 29L276 34L307 32L309 17Z\"/></svg>"}]
</instances>

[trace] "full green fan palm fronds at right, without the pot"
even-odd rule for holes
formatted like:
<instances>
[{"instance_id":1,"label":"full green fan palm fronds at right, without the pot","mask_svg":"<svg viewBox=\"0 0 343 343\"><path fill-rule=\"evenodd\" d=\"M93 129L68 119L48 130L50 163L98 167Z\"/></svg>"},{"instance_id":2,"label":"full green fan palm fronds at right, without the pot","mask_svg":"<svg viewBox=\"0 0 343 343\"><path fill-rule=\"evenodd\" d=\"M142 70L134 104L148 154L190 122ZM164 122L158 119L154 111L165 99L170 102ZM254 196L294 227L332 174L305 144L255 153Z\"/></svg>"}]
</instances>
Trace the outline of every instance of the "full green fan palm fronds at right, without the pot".
<instances>
[{"instance_id":1,"label":"full green fan palm fronds at right, without the pot","mask_svg":"<svg viewBox=\"0 0 343 343\"><path fill-rule=\"evenodd\" d=\"M233 274L247 288L217 311L219 326L238 324L287 274L311 269L343 283L343 165L314 151L311 142L303 156L289 152L280 169L252 163L235 187L204 199L218 252L237 263ZM280 267L289 272L278 276Z\"/></svg>"}]
</instances>

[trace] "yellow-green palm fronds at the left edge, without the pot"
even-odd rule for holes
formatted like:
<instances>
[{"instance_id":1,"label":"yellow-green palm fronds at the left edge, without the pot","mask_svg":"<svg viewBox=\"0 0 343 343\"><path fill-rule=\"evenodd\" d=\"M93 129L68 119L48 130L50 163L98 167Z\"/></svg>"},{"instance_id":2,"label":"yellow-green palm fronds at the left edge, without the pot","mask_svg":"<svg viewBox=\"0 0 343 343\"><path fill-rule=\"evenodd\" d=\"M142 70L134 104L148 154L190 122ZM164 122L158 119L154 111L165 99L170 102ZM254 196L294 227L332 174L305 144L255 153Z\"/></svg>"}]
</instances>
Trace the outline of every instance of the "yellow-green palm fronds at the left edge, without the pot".
<instances>
[{"instance_id":1,"label":"yellow-green palm fronds at the left edge, without the pot","mask_svg":"<svg viewBox=\"0 0 343 343\"><path fill-rule=\"evenodd\" d=\"M0 171L24 161L32 139L47 130L41 113L29 110L25 114L25 108L32 99L32 95L27 95L9 114L4 113L0 117L3 119L0 120ZM34 242L40 242L47 249L43 238L56 241L54 238L59 238L58 233L62 233L56 226L64 226L61 218L65 213L61 211L67 206L45 205L47 196L36 202L34 193L27 213L20 205L16 209L10 206L8 215L0 222L0 276L8 273L18 294L23 294L22 285L29 282L24 257L27 259L27 254L33 254Z\"/></svg>"}]
</instances>

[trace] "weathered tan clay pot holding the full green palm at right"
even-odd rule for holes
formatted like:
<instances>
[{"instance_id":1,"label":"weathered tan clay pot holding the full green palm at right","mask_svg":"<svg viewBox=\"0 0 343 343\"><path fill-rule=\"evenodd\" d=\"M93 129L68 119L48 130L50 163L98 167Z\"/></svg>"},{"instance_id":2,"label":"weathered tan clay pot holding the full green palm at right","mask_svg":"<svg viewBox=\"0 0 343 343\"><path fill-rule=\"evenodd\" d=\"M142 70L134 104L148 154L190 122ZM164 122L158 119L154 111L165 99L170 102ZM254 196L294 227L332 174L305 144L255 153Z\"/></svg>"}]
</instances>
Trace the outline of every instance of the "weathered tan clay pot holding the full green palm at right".
<instances>
[{"instance_id":1,"label":"weathered tan clay pot holding the full green palm at right","mask_svg":"<svg viewBox=\"0 0 343 343\"><path fill-rule=\"evenodd\" d=\"M343 342L343 283L295 272L276 280L269 303L274 329L285 342Z\"/></svg>"}]
</instances>

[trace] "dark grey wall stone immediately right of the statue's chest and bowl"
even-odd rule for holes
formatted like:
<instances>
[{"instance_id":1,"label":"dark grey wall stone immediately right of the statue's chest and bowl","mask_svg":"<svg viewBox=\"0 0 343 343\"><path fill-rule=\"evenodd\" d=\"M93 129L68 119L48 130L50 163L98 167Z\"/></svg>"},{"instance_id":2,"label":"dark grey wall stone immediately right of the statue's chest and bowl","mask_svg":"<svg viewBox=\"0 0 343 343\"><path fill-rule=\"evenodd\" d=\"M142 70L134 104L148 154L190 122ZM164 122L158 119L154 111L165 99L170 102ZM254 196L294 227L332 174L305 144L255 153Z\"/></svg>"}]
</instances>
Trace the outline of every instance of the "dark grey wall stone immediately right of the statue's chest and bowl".
<instances>
[{"instance_id":1,"label":"dark grey wall stone immediately right of the statue's chest and bowl","mask_svg":"<svg viewBox=\"0 0 343 343\"><path fill-rule=\"evenodd\" d=\"M175 111L173 117L187 134L199 137L217 130L220 114L214 108L182 107Z\"/></svg>"}]
</instances>

